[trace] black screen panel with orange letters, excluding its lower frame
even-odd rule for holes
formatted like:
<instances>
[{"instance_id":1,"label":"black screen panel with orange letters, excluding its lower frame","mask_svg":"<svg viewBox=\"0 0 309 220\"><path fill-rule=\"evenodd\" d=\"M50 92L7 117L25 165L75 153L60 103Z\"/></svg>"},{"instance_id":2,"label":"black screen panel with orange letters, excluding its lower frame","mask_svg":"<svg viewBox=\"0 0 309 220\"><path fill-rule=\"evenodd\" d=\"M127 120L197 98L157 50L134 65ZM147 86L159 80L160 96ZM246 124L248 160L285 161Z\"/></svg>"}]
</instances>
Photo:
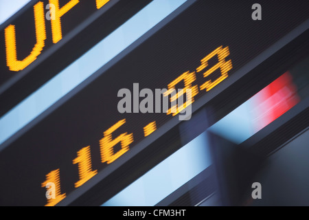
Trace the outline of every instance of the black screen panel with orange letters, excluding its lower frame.
<instances>
[{"instance_id":1,"label":"black screen panel with orange letters, excluding its lower frame","mask_svg":"<svg viewBox=\"0 0 309 220\"><path fill-rule=\"evenodd\" d=\"M4 39L0 46L1 85L108 2L45 0L29 7L21 17L1 30L0 36Z\"/></svg>"}]
</instances>

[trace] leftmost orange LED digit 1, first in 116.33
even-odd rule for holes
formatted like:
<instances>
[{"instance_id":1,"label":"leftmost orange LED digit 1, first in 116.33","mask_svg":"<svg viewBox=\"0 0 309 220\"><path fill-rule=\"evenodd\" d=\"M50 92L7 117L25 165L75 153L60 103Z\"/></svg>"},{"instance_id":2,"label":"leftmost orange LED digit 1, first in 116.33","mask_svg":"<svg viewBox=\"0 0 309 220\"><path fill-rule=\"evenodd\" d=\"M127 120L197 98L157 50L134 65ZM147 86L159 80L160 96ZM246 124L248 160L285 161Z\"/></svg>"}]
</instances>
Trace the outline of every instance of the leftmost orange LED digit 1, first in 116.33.
<instances>
[{"instance_id":1,"label":"leftmost orange LED digit 1, first in 116.33","mask_svg":"<svg viewBox=\"0 0 309 220\"><path fill-rule=\"evenodd\" d=\"M54 183L55 184L55 199L47 199L47 204L45 206L55 206L59 201L62 199L65 199L66 195L61 194L60 192L60 169L52 170L50 173L46 175L46 181L42 183L42 187L45 188L45 186L48 183Z\"/></svg>"}]
</instances>

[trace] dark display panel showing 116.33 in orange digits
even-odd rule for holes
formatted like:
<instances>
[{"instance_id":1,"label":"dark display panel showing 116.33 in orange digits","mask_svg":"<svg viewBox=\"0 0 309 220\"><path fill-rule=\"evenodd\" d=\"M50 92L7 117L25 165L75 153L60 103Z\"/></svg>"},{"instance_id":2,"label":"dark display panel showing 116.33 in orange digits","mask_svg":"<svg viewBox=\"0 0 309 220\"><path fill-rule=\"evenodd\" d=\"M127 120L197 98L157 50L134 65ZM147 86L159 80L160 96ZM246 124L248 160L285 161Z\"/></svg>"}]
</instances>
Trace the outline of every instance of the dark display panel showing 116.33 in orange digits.
<instances>
[{"instance_id":1,"label":"dark display panel showing 116.33 in orange digits","mask_svg":"<svg viewBox=\"0 0 309 220\"><path fill-rule=\"evenodd\" d=\"M110 67L98 68L95 78L80 84L69 98L62 98L62 104L49 115L23 129L18 138L3 142L0 203L54 206L65 200L178 117L182 108L209 96L308 19L306 1L262 1L263 19L253 21L253 3L187 1L174 11L177 16L170 20L167 17L161 28ZM2 55L1 68L8 72ZM98 58L89 60L89 66ZM78 71L77 74L82 73L81 69ZM145 96L139 91L144 88L191 89L192 99L183 107L170 105L178 110L174 113L172 109L155 113L153 108L153 113L135 112L133 106L132 113L118 111L121 89L132 92L133 103L141 103ZM45 197L49 182L56 185L57 199ZM19 187L21 184L23 188Z\"/></svg>"}]
</instances>

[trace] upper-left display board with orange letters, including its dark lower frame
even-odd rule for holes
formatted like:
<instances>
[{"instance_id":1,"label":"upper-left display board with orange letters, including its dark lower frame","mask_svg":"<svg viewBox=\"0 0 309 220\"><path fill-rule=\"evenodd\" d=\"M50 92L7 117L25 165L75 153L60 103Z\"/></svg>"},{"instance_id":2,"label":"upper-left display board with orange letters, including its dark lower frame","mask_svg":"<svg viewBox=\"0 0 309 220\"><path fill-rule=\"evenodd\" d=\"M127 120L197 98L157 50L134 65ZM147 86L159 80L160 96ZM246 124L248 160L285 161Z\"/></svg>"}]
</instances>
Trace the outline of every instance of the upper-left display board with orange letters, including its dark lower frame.
<instances>
[{"instance_id":1,"label":"upper-left display board with orange letters, including its dark lower frame","mask_svg":"<svg viewBox=\"0 0 309 220\"><path fill-rule=\"evenodd\" d=\"M0 115L149 2L30 1L0 25ZM53 12L58 17L53 19ZM60 56L66 58L59 60Z\"/></svg>"}]
</instances>

